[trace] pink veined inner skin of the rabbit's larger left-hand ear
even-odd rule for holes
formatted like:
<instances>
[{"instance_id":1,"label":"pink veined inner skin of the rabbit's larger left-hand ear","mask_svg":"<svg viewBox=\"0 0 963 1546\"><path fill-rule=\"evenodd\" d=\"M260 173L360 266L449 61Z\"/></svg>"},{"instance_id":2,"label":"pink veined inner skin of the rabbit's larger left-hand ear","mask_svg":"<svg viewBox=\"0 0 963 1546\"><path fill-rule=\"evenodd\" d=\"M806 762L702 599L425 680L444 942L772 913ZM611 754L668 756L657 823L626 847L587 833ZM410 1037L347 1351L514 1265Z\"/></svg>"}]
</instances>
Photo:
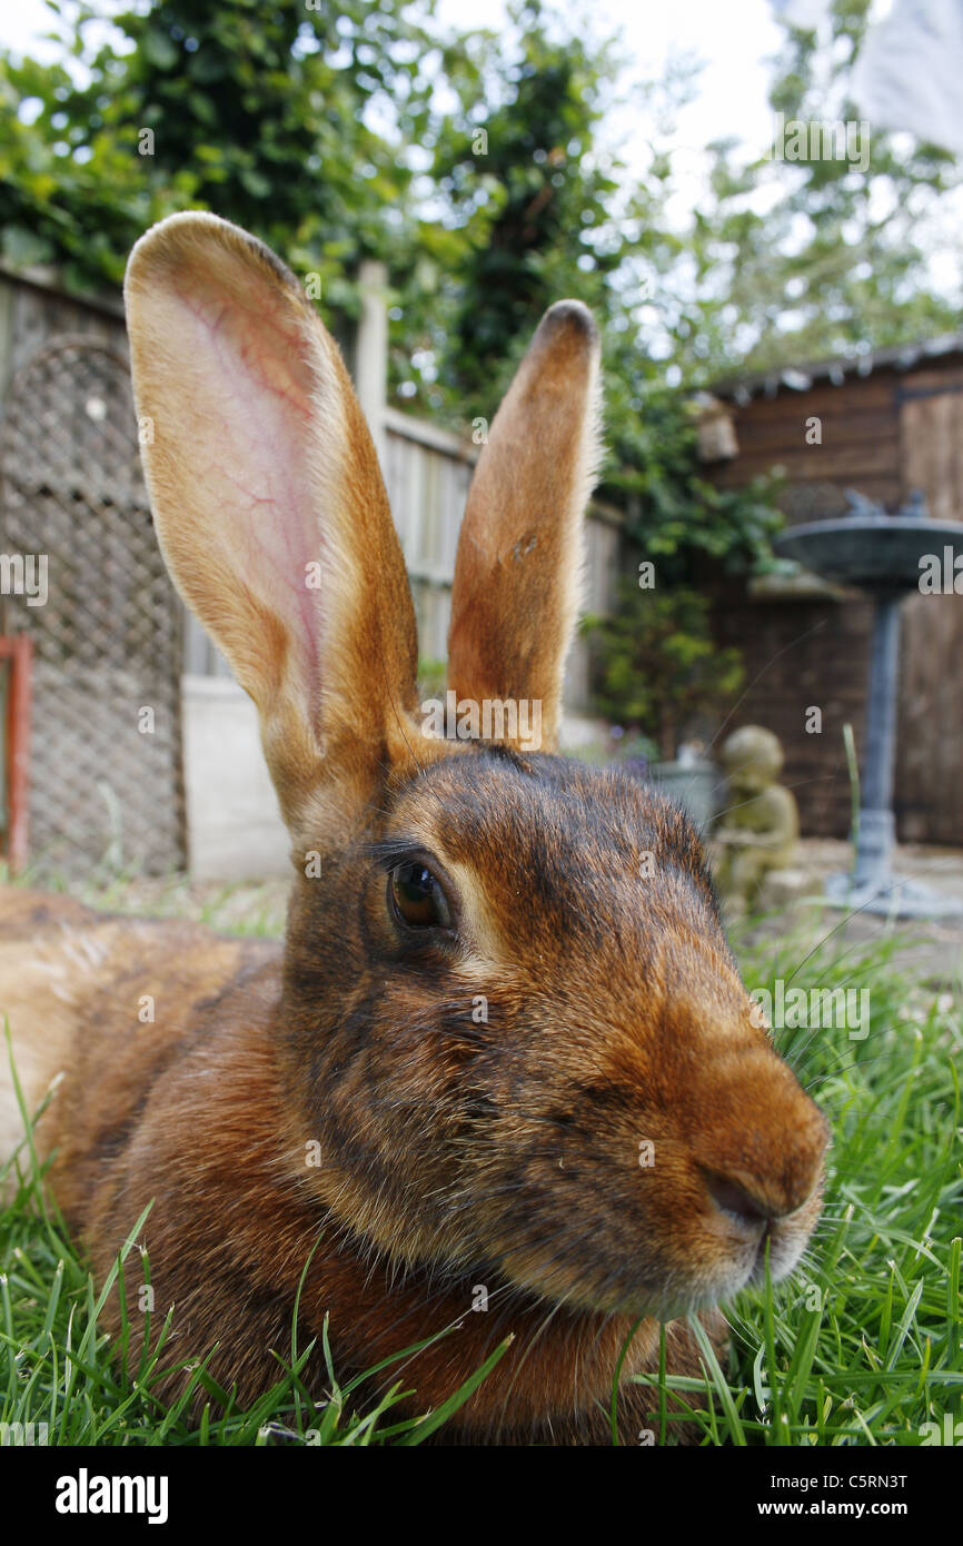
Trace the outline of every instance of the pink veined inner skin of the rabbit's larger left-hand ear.
<instances>
[{"instance_id":1,"label":"pink veined inner skin of the rabbit's larger left-hand ear","mask_svg":"<svg viewBox=\"0 0 963 1546\"><path fill-rule=\"evenodd\" d=\"M289 668L297 663L300 685L314 700L322 612L320 592L306 580L308 564L323 563L325 544L309 468L306 339L257 283L250 300L244 295L240 303L202 281L178 288L176 297L182 380L196 414L182 448L187 509L219 567L280 620L294 657ZM202 552L198 558L202 563ZM232 612L230 604L218 606L223 621ZM254 625L240 606L236 621ZM246 643L249 652L252 640Z\"/></svg>"}]
</instances>

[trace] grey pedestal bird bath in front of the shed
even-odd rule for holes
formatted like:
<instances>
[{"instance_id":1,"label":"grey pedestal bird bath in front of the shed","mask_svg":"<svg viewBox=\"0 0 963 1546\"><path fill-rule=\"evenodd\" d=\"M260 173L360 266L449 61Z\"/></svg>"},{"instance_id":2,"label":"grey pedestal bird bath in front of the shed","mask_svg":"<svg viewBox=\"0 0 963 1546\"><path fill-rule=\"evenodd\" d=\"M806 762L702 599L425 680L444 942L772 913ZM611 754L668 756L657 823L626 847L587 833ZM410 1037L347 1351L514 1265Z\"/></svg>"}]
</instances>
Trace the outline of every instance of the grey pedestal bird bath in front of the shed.
<instances>
[{"instance_id":1,"label":"grey pedestal bird bath in front of the shed","mask_svg":"<svg viewBox=\"0 0 963 1546\"><path fill-rule=\"evenodd\" d=\"M793 526L774 540L784 558L836 584L855 586L873 601L873 635L866 707L866 754L859 787L856 856L850 875L830 875L827 900L836 906L897 918L935 918L963 912L963 903L892 873L895 846L893 764L900 679L900 603L920 587L924 555L938 555L954 586L963 561L963 526L931 521L921 495L887 515L847 490L849 515Z\"/></svg>"}]
</instances>

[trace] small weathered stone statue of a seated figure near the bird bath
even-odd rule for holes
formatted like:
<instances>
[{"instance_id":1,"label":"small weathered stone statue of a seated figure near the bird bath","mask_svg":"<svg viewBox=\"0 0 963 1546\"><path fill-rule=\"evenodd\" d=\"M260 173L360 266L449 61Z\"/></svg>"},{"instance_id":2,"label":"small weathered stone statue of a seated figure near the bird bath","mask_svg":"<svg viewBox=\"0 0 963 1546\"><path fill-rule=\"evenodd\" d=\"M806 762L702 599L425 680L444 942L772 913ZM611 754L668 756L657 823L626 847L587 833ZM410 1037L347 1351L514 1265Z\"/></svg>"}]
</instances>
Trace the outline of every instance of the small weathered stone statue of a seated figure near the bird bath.
<instances>
[{"instance_id":1,"label":"small weathered stone statue of a seated figure near the bird bath","mask_svg":"<svg viewBox=\"0 0 963 1546\"><path fill-rule=\"evenodd\" d=\"M722 747L730 798L713 841L722 849L716 884L730 917L750 911L767 875L793 863L799 812L776 782L782 761L778 737L761 725L744 725Z\"/></svg>"}]
</instances>

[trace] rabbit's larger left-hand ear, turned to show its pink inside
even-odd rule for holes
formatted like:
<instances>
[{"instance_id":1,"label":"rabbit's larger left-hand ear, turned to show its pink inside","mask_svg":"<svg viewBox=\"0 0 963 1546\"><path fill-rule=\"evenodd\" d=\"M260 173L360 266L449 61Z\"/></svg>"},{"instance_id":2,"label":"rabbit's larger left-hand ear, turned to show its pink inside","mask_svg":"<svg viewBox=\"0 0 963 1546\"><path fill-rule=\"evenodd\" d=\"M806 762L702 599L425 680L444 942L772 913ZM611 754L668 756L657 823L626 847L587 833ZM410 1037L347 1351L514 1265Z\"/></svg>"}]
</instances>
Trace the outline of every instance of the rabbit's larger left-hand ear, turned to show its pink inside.
<instances>
[{"instance_id":1,"label":"rabbit's larger left-hand ear, turned to show its pink inside","mask_svg":"<svg viewBox=\"0 0 963 1546\"><path fill-rule=\"evenodd\" d=\"M403 754L411 592L337 345L294 275L213 215L131 252L134 396L158 538L261 716L281 812Z\"/></svg>"}]
</instances>

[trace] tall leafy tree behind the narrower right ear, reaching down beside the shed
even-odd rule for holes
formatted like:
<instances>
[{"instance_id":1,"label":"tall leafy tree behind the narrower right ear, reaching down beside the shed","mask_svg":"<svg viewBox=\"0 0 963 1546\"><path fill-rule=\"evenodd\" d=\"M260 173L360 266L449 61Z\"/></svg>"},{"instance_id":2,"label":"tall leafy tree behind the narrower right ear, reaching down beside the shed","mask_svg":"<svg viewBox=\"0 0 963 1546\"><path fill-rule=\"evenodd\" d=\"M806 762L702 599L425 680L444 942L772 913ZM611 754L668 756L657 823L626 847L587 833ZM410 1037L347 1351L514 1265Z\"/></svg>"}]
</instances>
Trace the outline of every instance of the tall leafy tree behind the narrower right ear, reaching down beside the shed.
<instances>
[{"instance_id":1,"label":"tall leafy tree behind the narrower right ear, reaching down beside the shed","mask_svg":"<svg viewBox=\"0 0 963 1546\"><path fill-rule=\"evenodd\" d=\"M603 496L623 506L666 580L691 577L700 555L762 567L779 524L771 492L708 481L671 362L640 320L683 252L665 210L671 165L654 145L640 182L600 142L618 99L611 40L594 40L583 19L563 26L538 0L510 15L505 37L468 34L442 54L458 96L431 147L445 207L422 227L414 286L402 288L394 385L454 425L488 419L546 306L584 300L603 332ZM685 85L669 82L669 94ZM634 88L640 121L655 90Z\"/></svg>"}]
</instances>

